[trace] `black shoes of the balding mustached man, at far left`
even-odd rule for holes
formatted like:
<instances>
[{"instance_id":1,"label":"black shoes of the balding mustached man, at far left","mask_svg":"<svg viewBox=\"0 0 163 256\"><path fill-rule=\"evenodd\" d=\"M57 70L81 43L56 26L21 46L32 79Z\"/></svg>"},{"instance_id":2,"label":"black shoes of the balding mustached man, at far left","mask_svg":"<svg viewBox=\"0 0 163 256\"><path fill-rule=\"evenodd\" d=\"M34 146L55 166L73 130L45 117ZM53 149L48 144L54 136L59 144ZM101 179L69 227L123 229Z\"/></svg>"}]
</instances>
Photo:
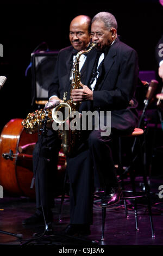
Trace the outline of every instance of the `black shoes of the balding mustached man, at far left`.
<instances>
[{"instance_id":1,"label":"black shoes of the balding mustached man, at far left","mask_svg":"<svg viewBox=\"0 0 163 256\"><path fill-rule=\"evenodd\" d=\"M46 217L46 222L48 223L53 222L53 212L48 213ZM33 224L41 224L41 223L45 223L43 214L37 214L37 212L35 212L32 216L22 221L23 225L33 225Z\"/></svg>"}]
</instances>

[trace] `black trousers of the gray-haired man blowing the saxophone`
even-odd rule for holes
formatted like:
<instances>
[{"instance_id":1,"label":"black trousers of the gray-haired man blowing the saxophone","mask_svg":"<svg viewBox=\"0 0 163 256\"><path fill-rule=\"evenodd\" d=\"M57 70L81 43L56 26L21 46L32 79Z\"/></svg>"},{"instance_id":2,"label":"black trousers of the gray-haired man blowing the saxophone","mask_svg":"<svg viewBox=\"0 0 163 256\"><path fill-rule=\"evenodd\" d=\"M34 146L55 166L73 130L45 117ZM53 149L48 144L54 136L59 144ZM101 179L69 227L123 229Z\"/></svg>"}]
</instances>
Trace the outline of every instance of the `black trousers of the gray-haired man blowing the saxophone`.
<instances>
[{"instance_id":1,"label":"black trousers of the gray-haired man blowing the saxophone","mask_svg":"<svg viewBox=\"0 0 163 256\"><path fill-rule=\"evenodd\" d=\"M94 188L117 186L110 149L112 137L101 136L100 130L91 131L78 153L67 157L71 224L92 224Z\"/></svg>"}]
</instances>

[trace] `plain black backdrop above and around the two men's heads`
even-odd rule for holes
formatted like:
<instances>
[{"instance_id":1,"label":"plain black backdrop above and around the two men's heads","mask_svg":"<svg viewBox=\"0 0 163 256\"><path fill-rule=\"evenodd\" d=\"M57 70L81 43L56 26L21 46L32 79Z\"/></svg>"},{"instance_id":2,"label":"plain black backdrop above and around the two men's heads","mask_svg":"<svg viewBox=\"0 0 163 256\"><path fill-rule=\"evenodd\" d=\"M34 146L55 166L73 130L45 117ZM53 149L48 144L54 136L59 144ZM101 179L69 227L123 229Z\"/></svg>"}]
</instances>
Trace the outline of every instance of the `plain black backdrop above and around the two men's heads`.
<instances>
[{"instance_id":1,"label":"plain black backdrop above and around the two men's heads","mask_svg":"<svg viewBox=\"0 0 163 256\"><path fill-rule=\"evenodd\" d=\"M155 46L163 31L163 7L158 0L133 1L8 1L1 0L0 76L7 82L0 91L0 131L12 118L26 118L31 106L30 54L45 41L49 50L70 45L69 25L73 17L93 17L109 11L118 22L121 40L139 54L140 70L156 70Z\"/></svg>"}]
</instances>

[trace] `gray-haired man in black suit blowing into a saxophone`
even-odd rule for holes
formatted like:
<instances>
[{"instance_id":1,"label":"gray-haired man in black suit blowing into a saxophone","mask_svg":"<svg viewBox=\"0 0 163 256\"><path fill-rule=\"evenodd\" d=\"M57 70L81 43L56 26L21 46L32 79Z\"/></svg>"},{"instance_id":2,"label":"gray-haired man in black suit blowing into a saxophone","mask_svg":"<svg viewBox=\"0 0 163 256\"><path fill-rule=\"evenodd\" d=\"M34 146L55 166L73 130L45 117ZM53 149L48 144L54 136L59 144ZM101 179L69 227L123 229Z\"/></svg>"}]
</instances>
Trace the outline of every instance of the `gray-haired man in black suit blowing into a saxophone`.
<instances>
[{"instance_id":1,"label":"gray-haired man in black suit blowing into a saxophone","mask_svg":"<svg viewBox=\"0 0 163 256\"><path fill-rule=\"evenodd\" d=\"M103 205L113 205L120 200L121 188L110 142L114 136L133 132L137 125L134 94L139 67L136 51L118 39L117 22L110 13L102 12L93 17L91 36L97 48L87 56L83 88L72 90L71 96L73 101L82 102L81 113L83 110L99 114L111 111L111 133L105 136L100 129L92 129L83 143L83 150L80 147L75 156L67 159L71 210L70 224L65 230L68 235L90 234L92 177L93 186L101 188ZM104 122L106 126L106 119Z\"/></svg>"}]
</instances>

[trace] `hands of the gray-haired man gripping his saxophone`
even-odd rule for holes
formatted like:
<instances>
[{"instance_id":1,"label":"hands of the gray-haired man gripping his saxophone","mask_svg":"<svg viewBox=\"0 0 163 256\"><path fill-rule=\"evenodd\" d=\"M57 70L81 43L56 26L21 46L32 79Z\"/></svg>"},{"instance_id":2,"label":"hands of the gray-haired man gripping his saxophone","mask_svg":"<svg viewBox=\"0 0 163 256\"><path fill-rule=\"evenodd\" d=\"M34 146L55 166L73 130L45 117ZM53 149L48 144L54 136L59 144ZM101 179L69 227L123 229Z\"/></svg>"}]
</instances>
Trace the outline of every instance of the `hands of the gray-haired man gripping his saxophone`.
<instances>
[{"instance_id":1,"label":"hands of the gray-haired man gripping his saxophone","mask_svg":"<svg viewBox=\"0 0 163 256\"><path fill-rule=\"evenodd\" d=\"M86 100L93 100L93 92L90 90L89 87L85 86L84 84L80 83L82 89L74 89L71 92L71 97L73 101L86 101Z\"/></svg>"}]
</instances>

